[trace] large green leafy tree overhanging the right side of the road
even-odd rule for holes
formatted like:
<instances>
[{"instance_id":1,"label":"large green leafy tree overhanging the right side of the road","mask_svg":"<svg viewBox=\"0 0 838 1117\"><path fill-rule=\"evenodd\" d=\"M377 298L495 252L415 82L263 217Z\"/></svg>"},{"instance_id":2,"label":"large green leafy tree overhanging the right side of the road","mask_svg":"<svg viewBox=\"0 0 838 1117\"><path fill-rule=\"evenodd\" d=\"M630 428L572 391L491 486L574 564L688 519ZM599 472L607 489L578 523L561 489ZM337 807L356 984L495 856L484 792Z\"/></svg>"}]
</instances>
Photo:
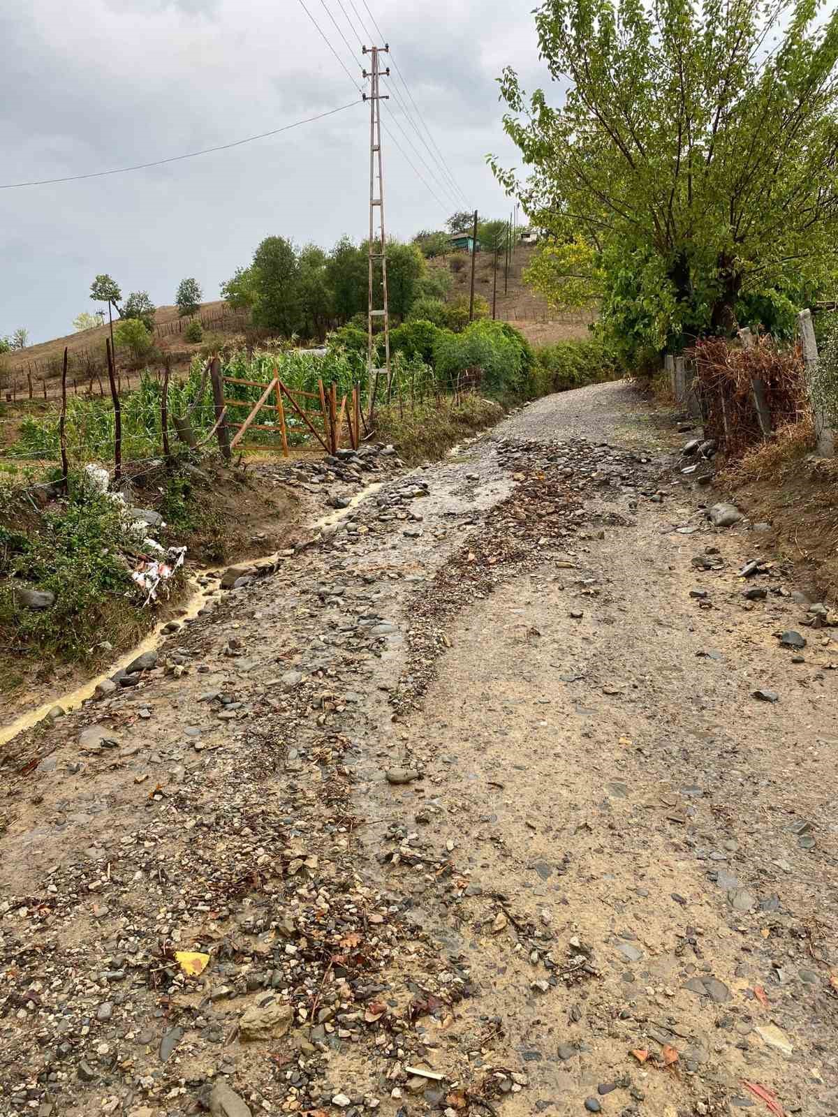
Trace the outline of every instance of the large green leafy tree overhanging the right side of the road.
<instances>
[{"instance_id":1,"label":"large green leafy tree overhanging the right side of the road","mask_svg":"<svg viewBox=\"0 0 838 1117\"><path fill-rule=\"evenodd\" d=\"M749 293L831 276L838 11L820 19L811 0L545 0L535 25L565 92L551 105L504 71L504 126L531 174L493 169L559 246L581 238L591 271L621 273L606 276L603 297L634 292L648 344L726 332ZM568 254L562 273L551 260L569 300L589 297L565 283L578 262Z\"/></svg>"}]
</instances>

